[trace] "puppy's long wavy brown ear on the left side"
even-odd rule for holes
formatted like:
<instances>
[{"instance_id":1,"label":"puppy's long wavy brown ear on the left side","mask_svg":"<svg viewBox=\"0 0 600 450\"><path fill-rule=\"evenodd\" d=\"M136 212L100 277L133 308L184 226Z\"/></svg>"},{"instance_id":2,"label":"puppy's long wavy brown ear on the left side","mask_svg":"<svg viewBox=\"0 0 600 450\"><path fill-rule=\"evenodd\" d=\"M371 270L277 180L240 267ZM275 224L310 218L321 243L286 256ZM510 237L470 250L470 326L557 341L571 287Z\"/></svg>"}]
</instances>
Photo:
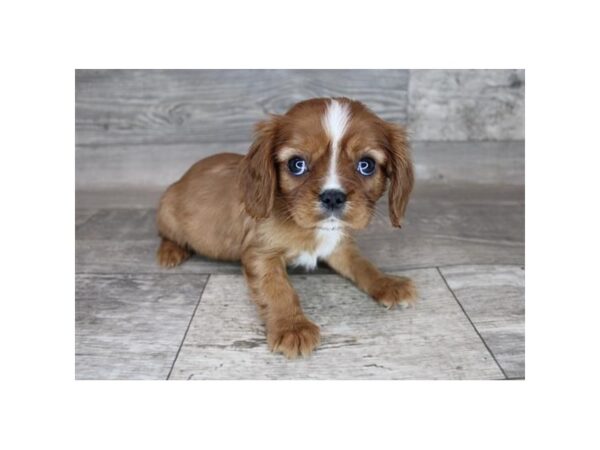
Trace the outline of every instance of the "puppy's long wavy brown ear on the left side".
<instances>
[{"instance_id":1,"label":"puppy's long wavy brown ear on the left side","mask_svg":"<svg viewBox=\"0 0 600 450\"><path fill-rule=\"evenodd\" d=\"M254 142L241 163L239 186L246 212L255 219L268 217L273 209L277 175L273 147L279 118L256 125Z\"/></svg>"}]
</instances>

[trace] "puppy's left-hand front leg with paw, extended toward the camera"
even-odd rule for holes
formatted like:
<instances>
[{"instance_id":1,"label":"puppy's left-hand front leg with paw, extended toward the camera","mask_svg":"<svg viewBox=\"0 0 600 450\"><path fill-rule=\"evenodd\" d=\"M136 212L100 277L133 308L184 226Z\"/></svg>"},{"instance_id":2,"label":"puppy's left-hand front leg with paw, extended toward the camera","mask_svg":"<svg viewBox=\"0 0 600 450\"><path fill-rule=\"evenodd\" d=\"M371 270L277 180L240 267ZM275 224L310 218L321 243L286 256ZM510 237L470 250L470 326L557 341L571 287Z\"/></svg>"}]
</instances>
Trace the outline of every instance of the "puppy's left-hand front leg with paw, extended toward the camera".
<instances>
[{"instance_id":1,"label":"puppy's left-hand front leg with paw, extended toward the camera","mask_svg":"<svg viewBox=\"0 0 600 450\"><path fill-rule=\"evenodd\" d=\"M319 327L306 318L281 255L246 251L244 274L265 321L271 351L288 358L307 356L319 345Z\"/></svg>"}]
</instances>

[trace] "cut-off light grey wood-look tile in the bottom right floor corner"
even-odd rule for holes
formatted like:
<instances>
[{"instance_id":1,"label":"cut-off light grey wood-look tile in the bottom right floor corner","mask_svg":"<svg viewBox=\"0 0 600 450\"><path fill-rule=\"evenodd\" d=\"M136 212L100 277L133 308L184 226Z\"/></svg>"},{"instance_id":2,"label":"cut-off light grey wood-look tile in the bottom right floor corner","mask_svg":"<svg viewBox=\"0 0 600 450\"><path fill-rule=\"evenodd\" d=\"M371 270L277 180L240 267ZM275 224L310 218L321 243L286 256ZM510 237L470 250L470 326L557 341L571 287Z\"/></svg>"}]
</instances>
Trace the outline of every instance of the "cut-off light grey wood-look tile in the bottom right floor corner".
<instances>
[{"instance_id":1,"label":"cut-off light grey wood-look tile in the bottom right floor corner","mask_svg":"<svg viewBox=\"0 0 600 450\"><path fill-rule=\"evenodd\" d=\"M441 272L506 375L524 378L524 268L455 266Z\"/></svg>"}]
</instances>

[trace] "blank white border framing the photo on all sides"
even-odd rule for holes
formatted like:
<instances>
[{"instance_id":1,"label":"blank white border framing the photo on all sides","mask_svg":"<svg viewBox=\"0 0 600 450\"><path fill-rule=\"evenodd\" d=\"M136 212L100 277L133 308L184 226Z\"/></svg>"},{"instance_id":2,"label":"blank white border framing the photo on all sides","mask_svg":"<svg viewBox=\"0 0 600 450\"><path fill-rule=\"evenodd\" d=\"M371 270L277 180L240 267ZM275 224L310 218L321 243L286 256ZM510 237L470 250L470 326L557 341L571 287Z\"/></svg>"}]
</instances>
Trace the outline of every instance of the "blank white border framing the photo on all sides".
<instances>
[{"instance_id":1,"label":"blank white border framing the photo on all sides","mask_svg":"<svg viewBox=\"0 0 600 450\"><path fill-rule=\"evenodd\" d=\"M214 4L3 7L0 445L597 445L593 3ZM73 381L73 69L115 67L526 68L527 380Z\"/></svg>"}]
</instances>

